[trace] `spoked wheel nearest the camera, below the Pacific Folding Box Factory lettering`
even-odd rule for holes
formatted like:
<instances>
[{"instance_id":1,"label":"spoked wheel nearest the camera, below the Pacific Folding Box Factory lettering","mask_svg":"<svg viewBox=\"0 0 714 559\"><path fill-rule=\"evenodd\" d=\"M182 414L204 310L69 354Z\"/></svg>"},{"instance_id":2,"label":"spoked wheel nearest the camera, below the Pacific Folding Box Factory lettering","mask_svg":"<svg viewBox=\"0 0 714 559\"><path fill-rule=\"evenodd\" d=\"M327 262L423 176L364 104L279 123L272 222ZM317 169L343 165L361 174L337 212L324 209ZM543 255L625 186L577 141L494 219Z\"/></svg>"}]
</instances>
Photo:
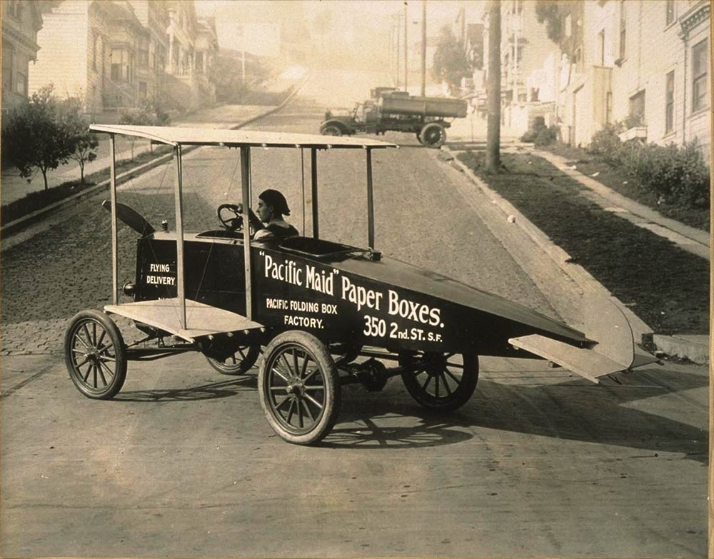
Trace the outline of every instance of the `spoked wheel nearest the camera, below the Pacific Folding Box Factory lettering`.
<instances>
[{"instance_id":1,"label":"spoked wheel nearest the camera, below the Pacific Folding Box Factory lettering","mask_svg":"<svg viewBox=\"0 0 714 559\"><path fill-rule=\"evenodd\" d=\"M268 343L258 387L268 423L288 443L317 443L335 424L341 401L337 367L310 333L290 330Z\"/></svg>"}]
</instances>

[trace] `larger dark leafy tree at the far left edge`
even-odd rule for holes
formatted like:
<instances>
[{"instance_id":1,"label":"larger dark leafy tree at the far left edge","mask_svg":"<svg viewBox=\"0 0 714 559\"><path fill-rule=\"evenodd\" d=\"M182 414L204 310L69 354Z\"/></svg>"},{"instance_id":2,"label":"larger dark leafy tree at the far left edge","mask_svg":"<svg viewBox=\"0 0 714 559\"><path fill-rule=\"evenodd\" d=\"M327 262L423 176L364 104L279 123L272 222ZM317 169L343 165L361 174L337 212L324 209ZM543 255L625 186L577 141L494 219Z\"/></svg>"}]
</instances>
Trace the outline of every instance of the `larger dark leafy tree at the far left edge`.
<instances>
[{"instance_id":1,"label":"larger dark leafy tree at the far left edge","mask_svg":"<svg viewBox=\"0 0 714 559\"><path fill-rule=\"evenodd\" d=\"M20 176L32 180L34 169L42 173L45 190L47 171L69 161L74 146L58 115L54 86L46 85L16 108L2 134L3 149Z\"/></svg>"}]
</instances>

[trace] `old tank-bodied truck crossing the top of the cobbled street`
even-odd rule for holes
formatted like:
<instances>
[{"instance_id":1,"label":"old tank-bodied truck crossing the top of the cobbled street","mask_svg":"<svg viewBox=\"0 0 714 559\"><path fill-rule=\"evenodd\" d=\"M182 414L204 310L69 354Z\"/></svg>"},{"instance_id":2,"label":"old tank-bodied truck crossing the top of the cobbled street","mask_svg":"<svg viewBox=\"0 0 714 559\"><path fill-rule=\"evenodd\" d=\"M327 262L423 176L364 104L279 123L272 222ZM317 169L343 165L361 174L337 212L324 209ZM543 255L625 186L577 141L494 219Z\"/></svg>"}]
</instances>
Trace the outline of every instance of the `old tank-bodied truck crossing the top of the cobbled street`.
<instances>
[{"instance_id":1,"label":"old tank-bodied truck crossing the top of the cobbled street","mask_svg":"<svg viewBox=\"0 0 714 559\"><path fill-rule=\"evenodd\" d=\"M320 133L343 136L413 132L424 146L438 148L446 141L451 121L466 116L464 99L411 96L391 87L377 87L371 94L372 99L356 104L347 114L327 111Z\"/></svg>"}]
</instances>

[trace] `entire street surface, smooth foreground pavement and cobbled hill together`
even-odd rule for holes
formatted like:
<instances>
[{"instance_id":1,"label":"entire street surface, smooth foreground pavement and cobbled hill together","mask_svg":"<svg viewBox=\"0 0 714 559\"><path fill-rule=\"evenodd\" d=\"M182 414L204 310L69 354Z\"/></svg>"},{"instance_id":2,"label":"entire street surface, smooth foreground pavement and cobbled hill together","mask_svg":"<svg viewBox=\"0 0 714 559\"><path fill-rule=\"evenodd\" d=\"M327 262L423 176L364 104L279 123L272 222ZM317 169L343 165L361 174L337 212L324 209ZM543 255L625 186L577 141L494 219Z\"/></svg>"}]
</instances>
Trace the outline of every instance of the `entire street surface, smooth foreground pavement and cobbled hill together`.
<instances>
[{"instance_id":1,"label":"entire street surface, smooth foreground pavement and cobbled hill together","mask_svg":"<svg viewBox=\"0 0 714 559\"><path fill-rule=\"evenodd\" d=\"M250 128L316 133L326 108L383 84L325 72ZM471 198L439 151L384 139L401 148L373 158L377 248L553 315L474 210L490 201ZM252 159L254 192L280 188L302 230L299 152ZM318 166L322 236L365 246L364 153L320 153ZM213 228L216 206L240 192L236 151L193 151L184 173L188 228ZM173 181L171 166L156 168L120 201L173 226ZM703 367L593 386L545 363L484 358L476 396L448 416L423 411L398 379L381 393L349 386L318 448L273 434L255 370L222 377L200 355L131 363L114 401L82 397L61 342L76 311L109 300L99 202L2 253L3 556L706 555ZM119 233L128 280L136 241Z\"/></svg>"}]
</instances>

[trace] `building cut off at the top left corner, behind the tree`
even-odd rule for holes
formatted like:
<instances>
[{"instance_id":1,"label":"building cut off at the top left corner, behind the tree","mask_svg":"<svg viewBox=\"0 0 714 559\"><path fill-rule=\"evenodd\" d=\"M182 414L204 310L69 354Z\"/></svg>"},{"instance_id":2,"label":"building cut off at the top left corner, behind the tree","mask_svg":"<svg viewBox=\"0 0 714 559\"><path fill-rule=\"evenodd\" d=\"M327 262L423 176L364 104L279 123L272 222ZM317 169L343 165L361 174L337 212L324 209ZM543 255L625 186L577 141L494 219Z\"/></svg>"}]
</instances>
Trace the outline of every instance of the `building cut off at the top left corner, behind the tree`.
<instances>
[{"instance_id":1,"label":"building cut off at the top left corner, behind the tree","mask_svg":"<svg viewBox=\"0 0 714 559\"><path fill-rule=\"evenodd\" d=\"M42 29L40 4L29 0L2 3L2 111L27 99L29 62L37 57Z\"/></svg>"}]
</instances>

